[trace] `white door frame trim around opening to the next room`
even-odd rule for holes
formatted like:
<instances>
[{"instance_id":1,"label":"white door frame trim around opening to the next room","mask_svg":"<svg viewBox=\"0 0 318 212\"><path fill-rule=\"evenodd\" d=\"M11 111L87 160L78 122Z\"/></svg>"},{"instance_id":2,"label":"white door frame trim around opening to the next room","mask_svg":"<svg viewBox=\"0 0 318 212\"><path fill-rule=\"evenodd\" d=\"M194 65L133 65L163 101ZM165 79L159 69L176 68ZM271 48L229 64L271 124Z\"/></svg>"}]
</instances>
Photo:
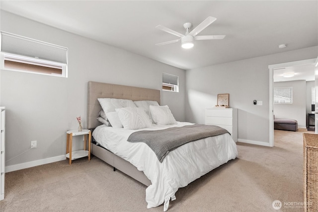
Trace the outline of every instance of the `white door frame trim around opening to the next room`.
<instances>
[{"instance_id":1,"label":"white door frame trim around opening to the next room","mask_svg":"<svg viewBox=\"0 0 318 212\"><path fill-rule=\"evenodd\" d=\"M269 65L269 146L274 146L274 101L273 101L273 84L274 84L274 70L280 70L290 67L315 65L315 59L295 61L282 64Z\"/></svg>"}]
</instances>

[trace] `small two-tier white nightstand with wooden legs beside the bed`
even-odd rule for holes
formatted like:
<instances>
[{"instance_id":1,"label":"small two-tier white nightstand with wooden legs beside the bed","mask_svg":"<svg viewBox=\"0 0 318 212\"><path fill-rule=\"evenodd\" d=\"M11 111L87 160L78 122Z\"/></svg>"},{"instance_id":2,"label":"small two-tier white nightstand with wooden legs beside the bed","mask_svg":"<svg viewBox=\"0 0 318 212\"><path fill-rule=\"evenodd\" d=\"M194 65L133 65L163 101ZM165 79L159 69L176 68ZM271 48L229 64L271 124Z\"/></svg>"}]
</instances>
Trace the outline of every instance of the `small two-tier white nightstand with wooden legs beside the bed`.
<instances>
[{"instance_id":1,"label":"small two-tier white nightstand with wooden legs beside the bed","mask_svg":"<svg viewBox=\"0 0 318 212\"><path fill-rule=\"evenodd\" d=\"M69 158L69 164L72 164L72 160L88 156L90 160L90 130L69 130L67 133L66 141L66 157ZM84 150L72 151L73 136L84 136ZM88 136L88 150L86 150L86 141Z\"/></svg>"}]
</instances>

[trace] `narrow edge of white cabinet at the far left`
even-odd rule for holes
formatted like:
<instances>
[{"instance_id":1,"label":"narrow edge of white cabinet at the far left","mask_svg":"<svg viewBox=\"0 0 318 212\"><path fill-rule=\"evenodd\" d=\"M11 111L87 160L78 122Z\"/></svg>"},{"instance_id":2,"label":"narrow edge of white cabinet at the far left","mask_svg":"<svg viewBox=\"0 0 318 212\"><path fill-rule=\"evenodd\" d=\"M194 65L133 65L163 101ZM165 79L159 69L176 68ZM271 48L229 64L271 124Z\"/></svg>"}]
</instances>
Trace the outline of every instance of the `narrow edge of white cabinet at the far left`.
<instances>
[{"instance_id":1,"label":"narrow edge of white cabinet at the far left","mask_svg":"<svg viewBox=\"0 0 318 212\"><path fill-rule=\"evenodd\" d=\"M0 107L0 129L1 129L1 137L0 137L0 200L4 199L4 140L5 140L5 108Z\"/></svg>"}]
</instances>

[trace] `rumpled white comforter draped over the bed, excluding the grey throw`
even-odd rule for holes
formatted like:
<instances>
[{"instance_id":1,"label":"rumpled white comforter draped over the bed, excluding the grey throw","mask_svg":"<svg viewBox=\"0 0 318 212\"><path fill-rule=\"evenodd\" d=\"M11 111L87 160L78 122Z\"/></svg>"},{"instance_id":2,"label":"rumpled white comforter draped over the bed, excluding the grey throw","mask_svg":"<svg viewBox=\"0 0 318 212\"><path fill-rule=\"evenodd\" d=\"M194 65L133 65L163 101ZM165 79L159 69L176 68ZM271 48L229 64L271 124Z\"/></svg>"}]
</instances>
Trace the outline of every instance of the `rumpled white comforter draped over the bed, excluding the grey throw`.
<instances>
[{"instance_id":1,"label":"rumpled white comforter draped over the bed, excluding the grey throw","mask_svg":"<svg viewBox=\"0 0 318 212\"><path fill-rule=\"evenodd\" d=\"M238 156L236 143L229 134L186 143L171 151L162 163L146 143L127 141L129 135L136 131L162 130L186 125L192 124L177 122L177 125L153 125L151 128L140 130L125 130L101 125L94 130L93 137L100 145L145 173L152 182L152 185L146 189L147 208L164 203L163 211L166 211L170 199L175 199L174 194L178 188L185 187L212 169Z\"/></svg>"}]
</instances>

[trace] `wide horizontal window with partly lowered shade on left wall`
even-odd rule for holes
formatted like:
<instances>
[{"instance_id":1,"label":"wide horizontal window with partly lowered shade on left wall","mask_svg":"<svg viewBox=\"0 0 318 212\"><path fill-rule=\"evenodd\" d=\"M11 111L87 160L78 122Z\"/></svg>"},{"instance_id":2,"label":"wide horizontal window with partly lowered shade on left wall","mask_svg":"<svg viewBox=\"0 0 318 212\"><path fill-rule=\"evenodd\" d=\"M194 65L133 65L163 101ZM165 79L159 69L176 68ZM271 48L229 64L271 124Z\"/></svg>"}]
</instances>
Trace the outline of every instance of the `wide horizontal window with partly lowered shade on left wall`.
<instances>
[{"instance_id":1,"label":"wide horizontal window with partly lowered shade on left wall","mask_svg":"<svg viewBox=\"0 0 318 212\"><path fill-rule=\"evenodd\" d=\"M68 49L1 32L1 69L67 77Z\"/></svg>"}]
</instances>

